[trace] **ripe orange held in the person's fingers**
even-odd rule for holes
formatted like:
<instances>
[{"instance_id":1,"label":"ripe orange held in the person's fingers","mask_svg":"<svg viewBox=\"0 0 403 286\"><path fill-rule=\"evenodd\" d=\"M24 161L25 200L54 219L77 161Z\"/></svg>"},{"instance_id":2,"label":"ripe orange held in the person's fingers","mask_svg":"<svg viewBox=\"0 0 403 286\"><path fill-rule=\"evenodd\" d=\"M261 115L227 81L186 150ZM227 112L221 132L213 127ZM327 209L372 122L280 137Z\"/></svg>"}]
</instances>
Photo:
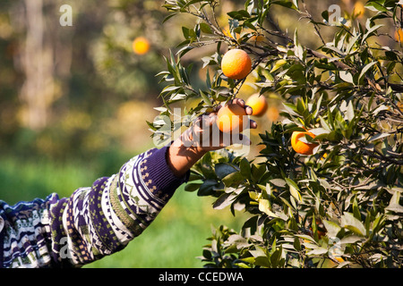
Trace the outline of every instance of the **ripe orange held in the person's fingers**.
<instances>
[{"instance_id":1,"label":"ripe orange held in the person's fingers","mask_svg":"<svg viewBox=\"0 0 403 286\"><path fill-rule=\"evenodd\" d=\"M242 132L244 130L244 107L236 104L224 105L217 113L217 126L219 130L228 133L231 131Z\"/></svg>"}]
</instances>

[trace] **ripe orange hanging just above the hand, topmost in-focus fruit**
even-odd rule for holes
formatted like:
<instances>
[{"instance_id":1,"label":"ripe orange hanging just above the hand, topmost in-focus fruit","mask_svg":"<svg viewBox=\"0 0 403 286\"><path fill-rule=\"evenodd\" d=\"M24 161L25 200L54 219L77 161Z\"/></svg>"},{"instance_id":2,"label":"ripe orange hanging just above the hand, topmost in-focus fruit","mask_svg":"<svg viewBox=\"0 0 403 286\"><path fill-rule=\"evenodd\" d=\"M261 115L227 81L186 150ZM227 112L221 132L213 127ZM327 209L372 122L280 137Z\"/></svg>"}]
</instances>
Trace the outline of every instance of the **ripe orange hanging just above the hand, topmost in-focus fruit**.
<instances>
[{"instance_id":1,"label":"ripe orange hanging just above the hand, topmost in-focus fruit","mask_svg":"<svg viewBox=\"0 0 403 286\"><path fill-rule=\"evenodd\" d=\"M251 58L244 50L232 49L222 57L221 70L230 79L242 80L251 69Z\"/></svg>"}]
</instances>

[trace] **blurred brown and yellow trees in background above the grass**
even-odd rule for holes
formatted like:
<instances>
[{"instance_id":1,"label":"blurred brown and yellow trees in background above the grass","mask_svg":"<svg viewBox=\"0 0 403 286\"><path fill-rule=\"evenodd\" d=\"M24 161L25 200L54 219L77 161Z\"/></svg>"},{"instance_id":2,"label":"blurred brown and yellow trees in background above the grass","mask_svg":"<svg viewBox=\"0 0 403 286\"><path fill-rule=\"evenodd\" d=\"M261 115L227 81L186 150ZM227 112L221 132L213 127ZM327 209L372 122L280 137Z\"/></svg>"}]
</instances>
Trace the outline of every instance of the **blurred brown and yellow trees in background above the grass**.
<instances>
[{"instance_id":1,"label":"blurred brown and yellow trees in background above the grass","mask_svg":"<svg viewBox=\"0 0 403 286\"><path fill-rule=\"evenodd\" d=\"M72 26L59 23L63 4ZM65 159L150 144L155 74L179 37L166 14L159 1L2 1L1 152ZM133 53L138 37L144 55Z\"/></svg>"}]
</instances>

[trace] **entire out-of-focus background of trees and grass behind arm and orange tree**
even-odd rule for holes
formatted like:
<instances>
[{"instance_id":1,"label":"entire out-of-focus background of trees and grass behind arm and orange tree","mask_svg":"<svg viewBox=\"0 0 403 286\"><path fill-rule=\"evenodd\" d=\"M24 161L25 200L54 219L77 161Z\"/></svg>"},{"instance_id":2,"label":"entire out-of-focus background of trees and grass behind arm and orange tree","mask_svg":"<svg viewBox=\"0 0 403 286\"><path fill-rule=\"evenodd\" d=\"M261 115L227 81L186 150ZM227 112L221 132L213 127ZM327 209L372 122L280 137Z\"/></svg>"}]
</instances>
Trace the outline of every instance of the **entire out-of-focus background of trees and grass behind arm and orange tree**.
<instances>
[{"instance_id":1,"label":"entire out-of-focus background of trees and grass behind arm and orange tree","mask_svg":"<svg viewBox=\"0 0 403 286\"><path fill-rule=\"evenodd\" d=\"M305 1L318 20L330 4L339 4L344 15L352 13L356 2ZM71 7L71 19L68 10L61 10L64 4ZM13 205L52 192L69 196L74 189L118 172L130 157L153 147L146 121L159 114L153 108L161 105L159 92L164 88L156 74L166 70L163 56L169 49L175 52L183 41L181 27L195 24L188 15L163 23L167 12L162 4L162 0L0 2L0 199ZM221 2L218 18L223 29L228 27L227 12L243 6L244 1ZM280 6L273 11L290 35L296 25L307 23ZM368 11L362 13L357 21L364 21L360 18ZM322 32L326 36L327 31ZM312 26L300 27L298 35L304 45L321 45L313 42L317 37L312 37ZM197 49L183 59L194 63L195 85L205 79L201 57L212 50ZM258 92L255 80L252 73L240 97ZM267 97L272 108L257 119L260 127L253 130L253 142L270 122L280 119L279 97ZM251 156L258 151L259 146L253 145ZM212 210L209 198L198 198L181 187L136 242L87 267L200 267L195 257L209 242L210 225L239 228L237 221L244 219Z\"/></svg>"}]
</instances>

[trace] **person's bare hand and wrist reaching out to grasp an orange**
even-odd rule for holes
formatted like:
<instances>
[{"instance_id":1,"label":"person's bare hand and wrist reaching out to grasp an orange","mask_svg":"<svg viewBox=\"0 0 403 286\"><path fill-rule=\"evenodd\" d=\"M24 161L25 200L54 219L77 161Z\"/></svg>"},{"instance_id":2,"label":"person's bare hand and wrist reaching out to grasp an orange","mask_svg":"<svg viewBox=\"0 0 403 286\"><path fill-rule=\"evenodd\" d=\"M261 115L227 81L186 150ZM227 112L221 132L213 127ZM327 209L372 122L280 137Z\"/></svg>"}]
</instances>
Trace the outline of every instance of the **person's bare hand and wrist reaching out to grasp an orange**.
<instances>
[{"instance_id":1,"label":"person's bare hand and wrist reaching out to grasp an orange","mask_svg":"<svg viewBox=\"0 0 403 286\"><path fill-rule=\"evenodd\" d=\"M232 104L243 107L247 115L251 115L253 112L250 106L244 104L243 99L235 98ZM219 130L216 121L220 107L221 105L210 114L199 116L193 122L193 125L185 130L169 147L167 164L177 177L183 176L193 164L209 151L218 150L236 143L251 144L250 139L242 133L228 136ZM256 122L248 118L246 128L255 129L256 127ZM216 138L217 134L219 139Z\"/></svg>"}]
</instances>

